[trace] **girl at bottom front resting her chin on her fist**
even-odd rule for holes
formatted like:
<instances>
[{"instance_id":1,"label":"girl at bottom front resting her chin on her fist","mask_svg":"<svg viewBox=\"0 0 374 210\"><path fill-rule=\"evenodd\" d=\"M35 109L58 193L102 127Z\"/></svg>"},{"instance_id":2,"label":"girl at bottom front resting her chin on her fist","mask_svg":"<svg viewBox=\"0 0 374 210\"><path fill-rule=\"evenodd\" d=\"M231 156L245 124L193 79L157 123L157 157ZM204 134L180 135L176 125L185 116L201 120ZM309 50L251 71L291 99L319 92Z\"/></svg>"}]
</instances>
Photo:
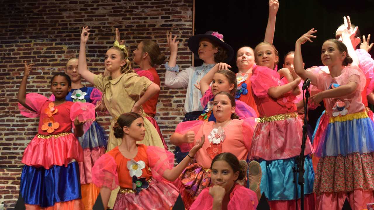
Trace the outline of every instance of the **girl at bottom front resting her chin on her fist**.
<instances>
[{"instance_id":1,"label":"girl at bottom front resting her chin on her fist","mask_svg":"<svg viewBox=\"0 0 374 210\"><path fill-rule=\"evenodd\" d=\"M246 170L235 155L230 152L216 155L210 169L212 186L201 191L190 210L256 209L255 192L236 183L246 176Z\"/></svg>"}]
</instances>

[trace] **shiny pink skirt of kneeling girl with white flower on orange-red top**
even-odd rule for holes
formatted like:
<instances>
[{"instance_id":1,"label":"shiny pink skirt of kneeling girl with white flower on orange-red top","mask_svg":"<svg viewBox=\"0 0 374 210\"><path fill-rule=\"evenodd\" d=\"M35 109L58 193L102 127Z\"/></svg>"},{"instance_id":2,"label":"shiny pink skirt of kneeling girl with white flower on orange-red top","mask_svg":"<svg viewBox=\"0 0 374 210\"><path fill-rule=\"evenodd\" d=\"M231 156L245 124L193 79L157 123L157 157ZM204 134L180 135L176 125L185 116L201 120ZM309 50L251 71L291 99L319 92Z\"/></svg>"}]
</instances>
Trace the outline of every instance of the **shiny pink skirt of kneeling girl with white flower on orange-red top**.
<instances>
[{"instance_id":1,"label":"shiny pink skirt of kneeling girl with white flower on orange-red top","mask_svg":"<svg viewBox=\"0 0 374 210\"><path fill-rule=\"evenodd\" d=\"M178 189L172 183L152 180L147 189L139 194L117 194L113 209L139 210L139 209L165 209L174 206L178 198Z\"/></svg>"}]
</instances>

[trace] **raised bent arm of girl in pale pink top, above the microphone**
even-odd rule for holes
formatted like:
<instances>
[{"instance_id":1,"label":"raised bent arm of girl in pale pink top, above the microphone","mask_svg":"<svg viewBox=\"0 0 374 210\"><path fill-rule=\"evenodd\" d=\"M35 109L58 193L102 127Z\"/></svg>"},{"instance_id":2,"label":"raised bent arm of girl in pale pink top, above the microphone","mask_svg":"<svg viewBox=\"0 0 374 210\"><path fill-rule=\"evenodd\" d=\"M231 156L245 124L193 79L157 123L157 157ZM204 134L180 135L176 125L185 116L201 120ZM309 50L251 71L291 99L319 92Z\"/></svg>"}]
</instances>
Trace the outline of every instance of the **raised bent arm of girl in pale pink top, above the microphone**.
<instances>
[{"instance_id":1,"label":"raised bent arm of girl in pale pink top, above the microphone","mask_svg":"<svg viewBox=\"0 0 374 210\"><path fill-rule=\"evenodd\" d=\"M313 81L315 80L315 77L313 77L312 72L304 70L303 57L301 56L301 44L306 43L306 41L313 42L312 40L310 40L310 38L311 37L316 38L315 35L312 35L316 32L317 30L314 30L314 28L312 28L306 34L303 34L300 38L298 38L298 40L295 43L295 55L294 55L294 68L295 68L296 74L299 75L299 77L301 77L303 80L306 80L307 78L309 78L313 84L316 84L317 81Z\"/></svg>"}]
</instances>

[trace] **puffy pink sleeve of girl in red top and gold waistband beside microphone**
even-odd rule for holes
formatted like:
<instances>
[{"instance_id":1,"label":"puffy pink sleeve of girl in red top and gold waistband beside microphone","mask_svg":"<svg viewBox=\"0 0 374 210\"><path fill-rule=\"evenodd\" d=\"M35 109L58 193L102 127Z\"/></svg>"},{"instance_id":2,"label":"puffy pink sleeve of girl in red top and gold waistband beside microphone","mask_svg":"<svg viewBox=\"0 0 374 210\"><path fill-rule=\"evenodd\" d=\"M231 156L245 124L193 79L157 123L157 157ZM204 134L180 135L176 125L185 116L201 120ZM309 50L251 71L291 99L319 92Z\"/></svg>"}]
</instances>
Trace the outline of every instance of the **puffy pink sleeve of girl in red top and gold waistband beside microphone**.
<instances>
[{"instance_id":1,"label":"puffy pink sleeve of girl in red top and gold waistband beside microphone","mask_svg":"<svg viewBox=\"0 0 374 210\"><path fill-rule=\"evenodd\" d=\"M258 98L268 97L267 91L270 87L281 85L279 73L262 66L255 68L250 80L252 82L252 91Z\"/></svg>"}]
</instances>

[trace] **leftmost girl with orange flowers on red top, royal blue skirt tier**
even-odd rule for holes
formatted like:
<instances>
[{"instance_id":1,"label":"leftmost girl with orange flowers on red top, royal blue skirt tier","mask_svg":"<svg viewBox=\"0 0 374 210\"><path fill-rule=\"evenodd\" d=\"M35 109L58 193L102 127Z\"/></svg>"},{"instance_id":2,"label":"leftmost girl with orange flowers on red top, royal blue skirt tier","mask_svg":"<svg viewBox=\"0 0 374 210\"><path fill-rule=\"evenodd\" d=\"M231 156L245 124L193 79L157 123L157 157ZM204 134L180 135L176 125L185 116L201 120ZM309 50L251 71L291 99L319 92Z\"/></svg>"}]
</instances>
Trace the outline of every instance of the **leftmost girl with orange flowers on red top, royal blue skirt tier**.
<instances>
[{"instance_id":1,"label":"leftmost girl with orange flowers on red top, royal blue skirt tier","mask_svg":"<svg viewBox=\"0 0 374 210\"><path fill-rule=\"evenodd\" d=\"M83 210L78 164L83 161L83 149L77 138L95 120L95 106L65 100L71 89L71 80L63 72L53 75L50 82L55 101L37 93L26 95L32 65L25 63L18 107L22 115L40 117L40 121L38 133L22 157L25 166L20 194L26 209Z\"/></svg>"}]
</instances>

